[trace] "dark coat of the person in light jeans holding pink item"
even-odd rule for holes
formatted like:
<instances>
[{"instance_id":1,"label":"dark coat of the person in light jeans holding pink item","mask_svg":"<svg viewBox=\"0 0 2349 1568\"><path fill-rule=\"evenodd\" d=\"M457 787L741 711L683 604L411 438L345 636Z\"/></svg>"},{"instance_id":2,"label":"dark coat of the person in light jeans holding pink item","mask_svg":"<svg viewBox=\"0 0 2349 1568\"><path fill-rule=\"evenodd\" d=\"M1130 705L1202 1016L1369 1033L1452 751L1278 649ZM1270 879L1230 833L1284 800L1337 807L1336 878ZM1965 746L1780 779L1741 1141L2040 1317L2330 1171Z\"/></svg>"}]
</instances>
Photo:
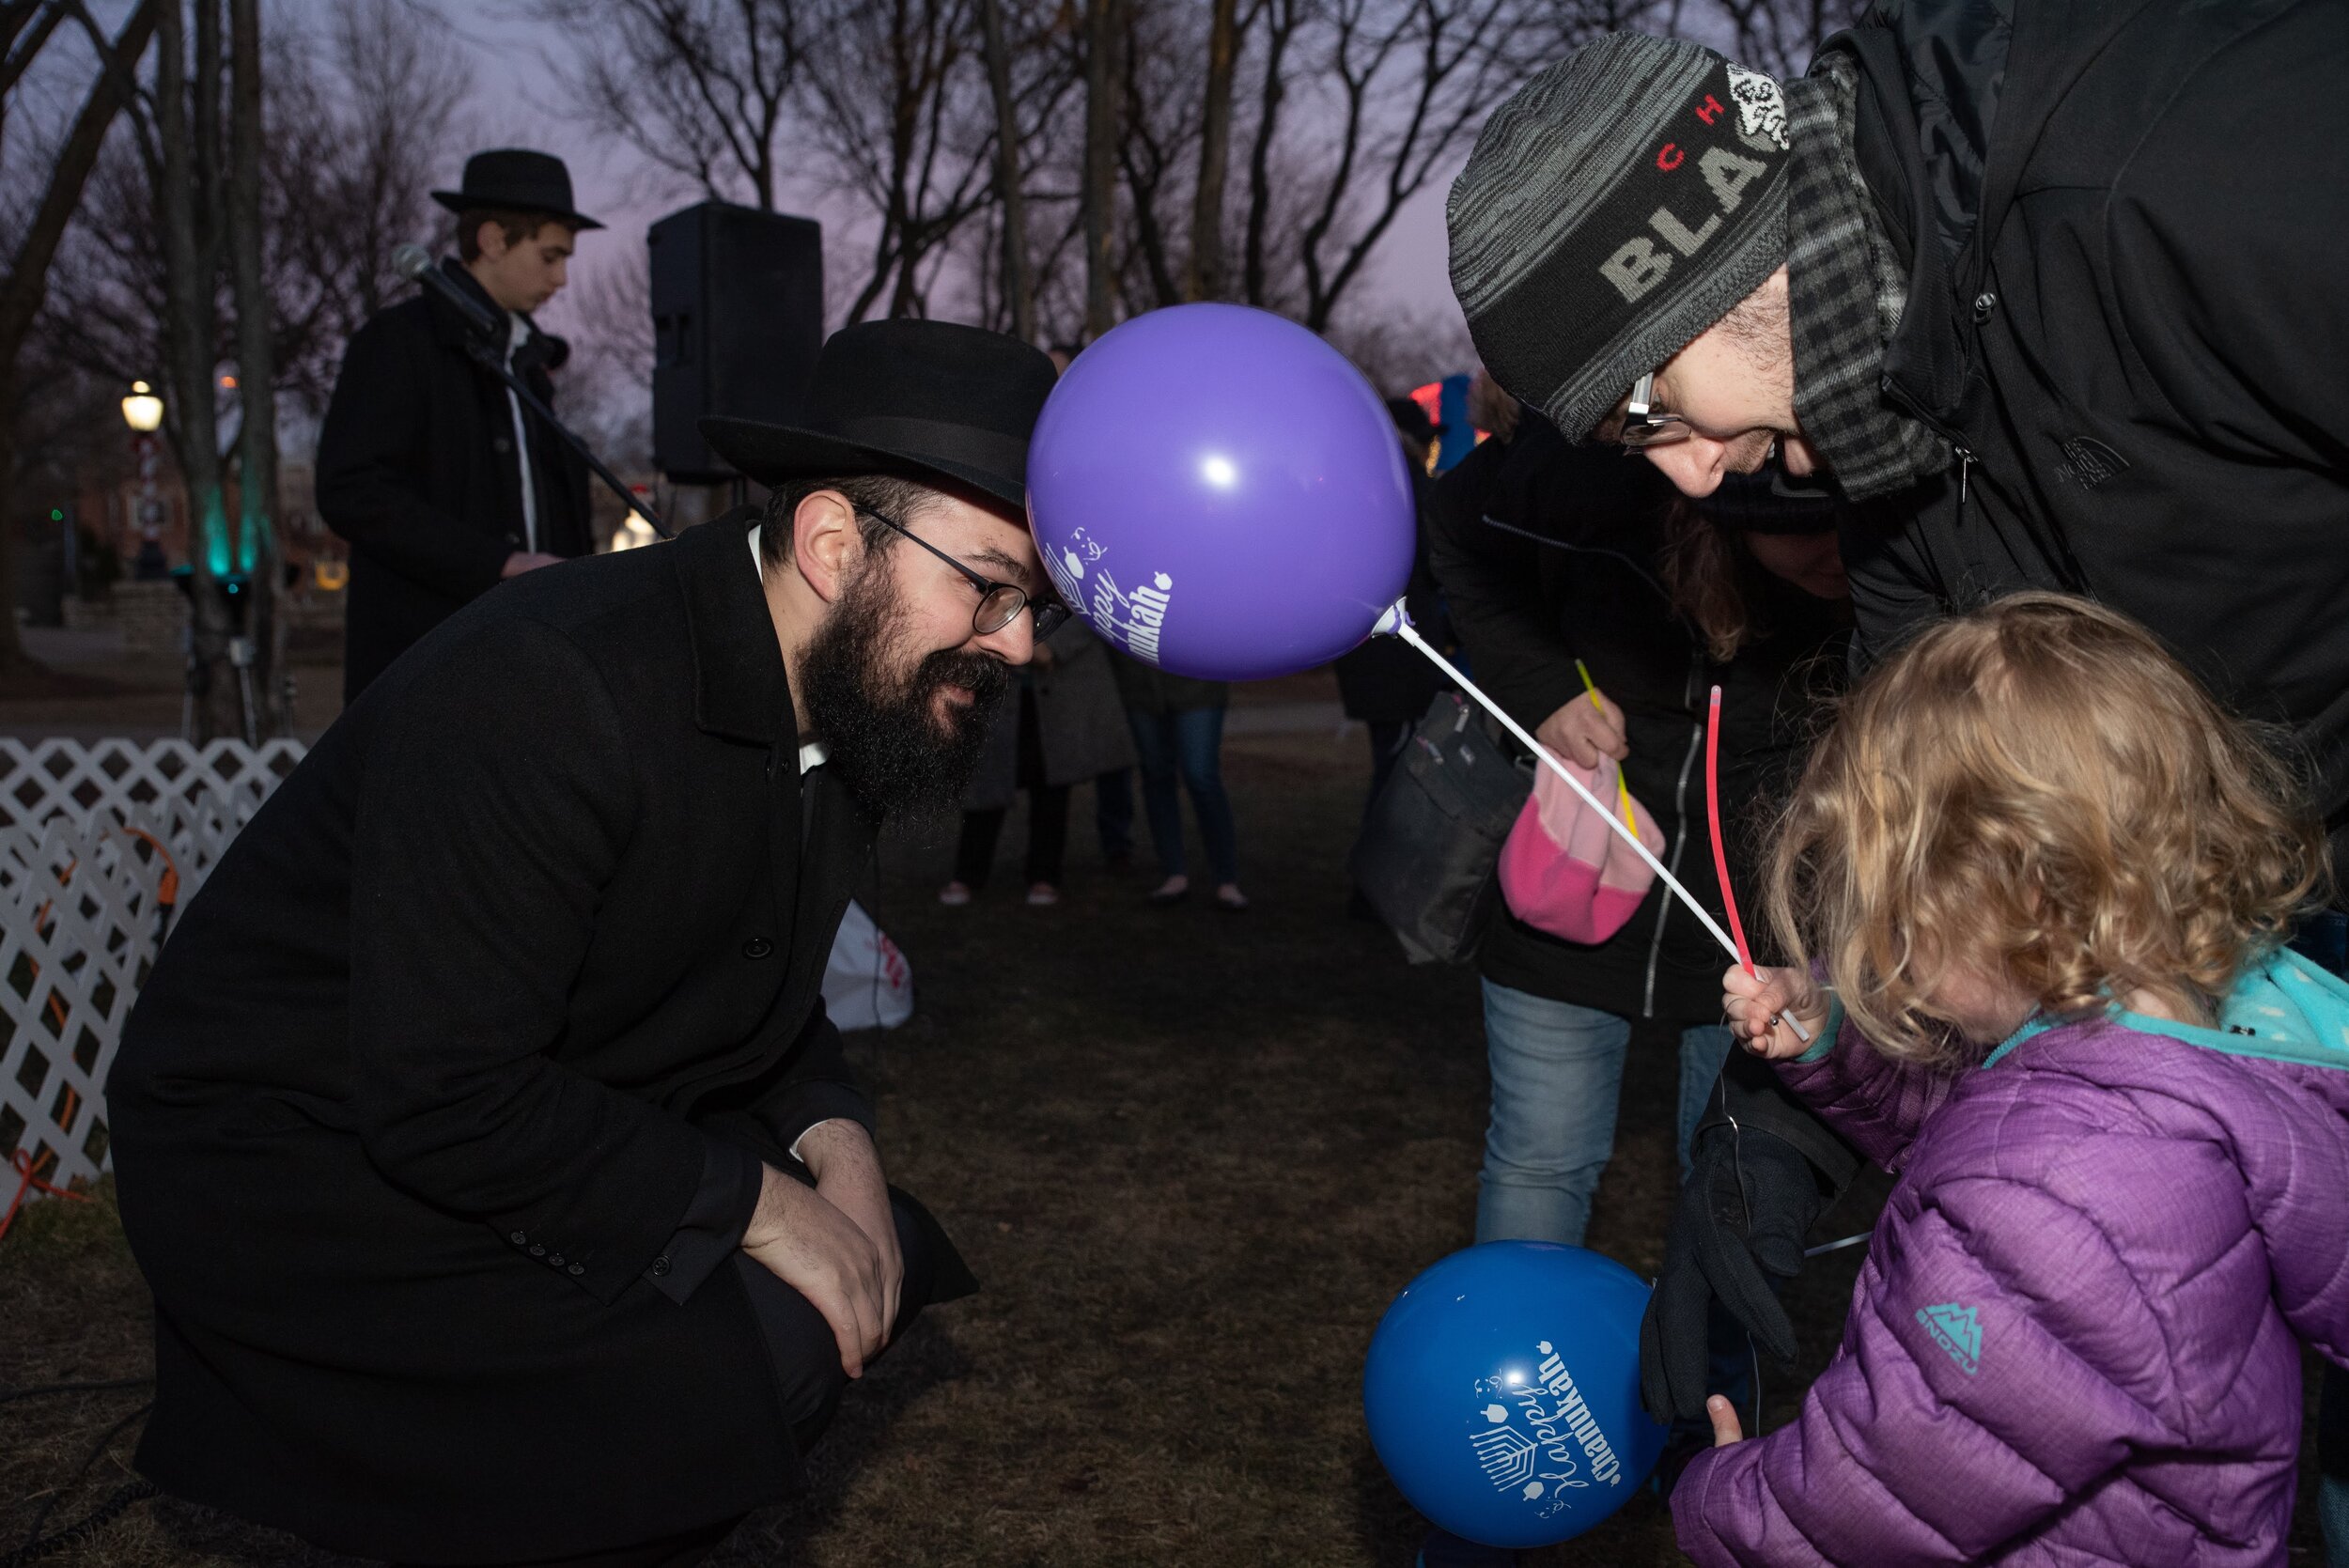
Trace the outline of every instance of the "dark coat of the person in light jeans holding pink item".
<instances>
[{"instance_id":1,"label":"dark coat of the person in light jeans holding pink item","mask_svg":"<svg viewBox=\"0 0 2349 1568\"><path fill-rule=\"evenodd\" d=\"M1611 446L1569 446L1532 411L1515 439L1468 453L1438 495L1435 577L1478 683L1534 730L1588 702L1581 657L1623 711L1623 779L1663 829L1663 864L1727 930L1705 826L1708 695L1722 688L1722 829L1738 876L1752 864L1755 803L1783 784L1823 683L1842 671L1839 606L1755 570L1757 634L1712 662L1663 587L1670 484ZM1661 880L1609 941L1562 941L1501 908L1478 948L1485 979L1510 991L1682 1026L1719 1021L1727 962Z\"/></svg>"}]
</instances>

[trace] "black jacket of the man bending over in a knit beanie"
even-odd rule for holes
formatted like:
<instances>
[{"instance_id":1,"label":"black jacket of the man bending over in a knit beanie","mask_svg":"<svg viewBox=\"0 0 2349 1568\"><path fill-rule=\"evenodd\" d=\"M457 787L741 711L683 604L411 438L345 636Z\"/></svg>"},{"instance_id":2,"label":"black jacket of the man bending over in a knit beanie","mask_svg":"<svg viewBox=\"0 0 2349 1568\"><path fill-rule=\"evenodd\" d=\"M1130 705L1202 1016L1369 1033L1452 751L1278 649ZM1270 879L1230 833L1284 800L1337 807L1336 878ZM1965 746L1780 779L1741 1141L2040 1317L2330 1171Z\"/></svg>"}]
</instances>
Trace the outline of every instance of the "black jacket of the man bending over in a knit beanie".
<instances>
[{"instance_id":1,"label":"black jacket of the man bending over in a knit beanie","mask_svg":"<svg viewBox=\"0 0 2349 1568\"><path fill-rule=\"evenodd\" d=\"M2349 178L2337 0L1879 7L1856 153L1907 310L1886 394L1961 448L1846 542L1884 650L1945 608L2086 592L2288 723L2349 847Z\"/></svg>"}]
</instances>

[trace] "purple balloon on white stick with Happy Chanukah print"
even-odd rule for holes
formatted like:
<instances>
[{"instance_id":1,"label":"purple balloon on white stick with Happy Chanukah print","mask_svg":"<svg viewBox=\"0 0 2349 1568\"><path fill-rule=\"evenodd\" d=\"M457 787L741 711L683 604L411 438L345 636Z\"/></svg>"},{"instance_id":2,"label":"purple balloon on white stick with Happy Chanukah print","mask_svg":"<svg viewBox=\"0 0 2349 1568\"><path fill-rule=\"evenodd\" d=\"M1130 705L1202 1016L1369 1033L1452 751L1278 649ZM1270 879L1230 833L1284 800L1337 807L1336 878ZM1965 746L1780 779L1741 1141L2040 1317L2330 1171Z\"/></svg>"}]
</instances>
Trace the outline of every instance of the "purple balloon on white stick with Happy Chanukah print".
<instances>
[{"instance_id":1,"label":"purple balloon on white stick with Happy Chanukah print","mask_svg":"<svg viewBox=\"0 0 2349 1568\"><path fill-rule=\"evenodd\" d=\"M1412 575L1412 479L1379 394L1304 326L1245 305L1153 310L1078 354L1027 481L1062 596L1179 676L1327 664Z\"/></svg>"}]
</instances>

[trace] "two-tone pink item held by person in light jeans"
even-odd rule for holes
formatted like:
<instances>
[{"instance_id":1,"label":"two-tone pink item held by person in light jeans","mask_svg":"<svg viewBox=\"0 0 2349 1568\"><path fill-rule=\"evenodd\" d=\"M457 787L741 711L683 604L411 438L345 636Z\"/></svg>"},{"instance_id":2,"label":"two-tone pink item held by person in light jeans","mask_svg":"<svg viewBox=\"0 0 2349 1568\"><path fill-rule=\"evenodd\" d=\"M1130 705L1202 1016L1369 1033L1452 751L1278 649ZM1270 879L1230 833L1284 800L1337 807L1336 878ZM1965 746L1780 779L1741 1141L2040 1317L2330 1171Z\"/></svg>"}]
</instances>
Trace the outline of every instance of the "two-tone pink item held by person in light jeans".
<instances>
[{"instance_id":1,"label":"two-tone pink item held by person in light jeans","mask_svg":"<svg viewBox=\"0 0 2349 1568\"><path fill-rule=\"evenodd\" d=\"M1600 800L1618 800L1616 763L1567 770ZM1649 854L1663 854L1656 819L1633 800L1633 822ZM1501 845L1501 897L1510 913L1550 937L1600 944L1623 930L1656 873L1590 805L1546 765L1534 770L1517 824Z\"/></svg>"}]
</instances>

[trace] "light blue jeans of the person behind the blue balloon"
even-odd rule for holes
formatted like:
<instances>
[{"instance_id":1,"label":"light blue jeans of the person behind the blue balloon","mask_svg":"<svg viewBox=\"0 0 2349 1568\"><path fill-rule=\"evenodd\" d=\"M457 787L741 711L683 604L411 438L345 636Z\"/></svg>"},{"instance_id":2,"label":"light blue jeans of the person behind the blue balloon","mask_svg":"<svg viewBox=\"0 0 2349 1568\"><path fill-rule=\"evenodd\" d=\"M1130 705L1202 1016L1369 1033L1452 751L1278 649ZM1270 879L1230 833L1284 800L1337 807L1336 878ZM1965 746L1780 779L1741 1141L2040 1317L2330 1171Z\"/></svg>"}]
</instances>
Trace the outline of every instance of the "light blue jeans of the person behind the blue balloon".
<instances>
[{"instance_id":1,"label":"light blue jeans of the person behind the blue balloon","mask_svg":"<svg viewBox=\"0 0 2349 1568\"><path fill-rule=\"evenodd\" d=\"M1485 981L1485 1049L1492 1056L1492 1122L1475 1202L1478 1242L1581 1246L1590 1197L1614 1155L1616 1101L1630 1021ZM1729 1030L1680 1030L1675 1148L1689 1174L1689 1134L1729 1056Z\"/></svg>"}]
</instances>

